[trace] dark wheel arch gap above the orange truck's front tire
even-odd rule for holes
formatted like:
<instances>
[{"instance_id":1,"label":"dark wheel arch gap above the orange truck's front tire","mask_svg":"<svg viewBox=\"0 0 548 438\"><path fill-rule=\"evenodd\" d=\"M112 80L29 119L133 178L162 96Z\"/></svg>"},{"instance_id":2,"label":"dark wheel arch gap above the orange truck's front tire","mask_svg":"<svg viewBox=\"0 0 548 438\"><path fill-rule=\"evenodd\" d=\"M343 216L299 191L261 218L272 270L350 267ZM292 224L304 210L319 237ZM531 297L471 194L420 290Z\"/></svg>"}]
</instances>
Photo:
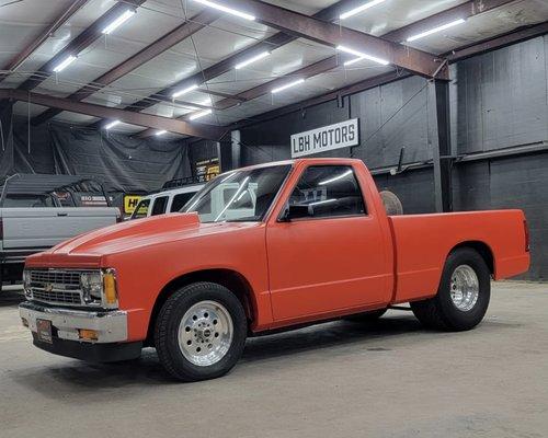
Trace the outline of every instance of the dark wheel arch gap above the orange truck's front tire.
<instances>
[{"instance_id":1,"label":"dark wheel arch gap above the orange truck's front tire","mask_svg":"<svg viewBox=\"0 0 548 438\"><path fill-rule=\"evenodd\" d=\"M243 275L233 269L225 268L195 270L173 278L158 293L148 323L147 345L153 345L153 332L158 313L168 298L180 288L199 281L216 283L229 289L240 300L249 322L248 326L251 326L256 320L258 310L253 298L253 289Z\"/></svg>"}]
</instances>

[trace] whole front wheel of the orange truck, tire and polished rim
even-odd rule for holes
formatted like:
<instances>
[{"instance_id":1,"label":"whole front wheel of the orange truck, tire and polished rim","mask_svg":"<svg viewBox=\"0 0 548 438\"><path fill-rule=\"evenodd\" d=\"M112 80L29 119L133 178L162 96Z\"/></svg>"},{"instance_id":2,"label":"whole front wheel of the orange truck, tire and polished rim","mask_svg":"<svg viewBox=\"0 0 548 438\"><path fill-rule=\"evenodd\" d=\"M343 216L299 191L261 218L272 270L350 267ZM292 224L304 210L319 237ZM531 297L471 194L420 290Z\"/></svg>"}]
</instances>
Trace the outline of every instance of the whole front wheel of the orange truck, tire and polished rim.
<instances>
[{"instance_id":1,"label":"whole front wheel of the orange truck, tire and polished rim","mask_svg":"<svg viewBox=\"0 0 548 438\"><path fill-rule=\"evenodd\" d=\"M248 323L238 298L215 283L174 292L155 326L160 362L174 378L193 382L226 374L241 357Z\"/></svg>"}]
</instances>

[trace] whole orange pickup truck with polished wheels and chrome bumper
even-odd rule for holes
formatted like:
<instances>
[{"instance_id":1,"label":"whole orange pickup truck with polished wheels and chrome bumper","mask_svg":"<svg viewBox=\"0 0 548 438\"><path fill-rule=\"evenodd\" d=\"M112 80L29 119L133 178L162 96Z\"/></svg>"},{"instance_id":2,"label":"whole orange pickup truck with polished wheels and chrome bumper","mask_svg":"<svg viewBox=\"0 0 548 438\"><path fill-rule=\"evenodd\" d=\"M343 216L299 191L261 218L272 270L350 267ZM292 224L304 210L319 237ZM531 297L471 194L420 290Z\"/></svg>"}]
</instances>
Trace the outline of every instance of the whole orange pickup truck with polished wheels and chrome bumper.
<instances>
[{"instance_id":1,"label":"whole orange pickup truck with polished wheels and chrome bumper","mask_svg":"<svg viewBox=\"0 0 548 438\"><path fill-rule=\"evenodd\" d=\"M44 350L115 361L153 346L194 381L230 370L247 336L402 302L426 326L472 328L490 278L528 265L521 210L387 216L362 161L295 160L30 256L20 314Z\"/></svg>"}]
</instances>

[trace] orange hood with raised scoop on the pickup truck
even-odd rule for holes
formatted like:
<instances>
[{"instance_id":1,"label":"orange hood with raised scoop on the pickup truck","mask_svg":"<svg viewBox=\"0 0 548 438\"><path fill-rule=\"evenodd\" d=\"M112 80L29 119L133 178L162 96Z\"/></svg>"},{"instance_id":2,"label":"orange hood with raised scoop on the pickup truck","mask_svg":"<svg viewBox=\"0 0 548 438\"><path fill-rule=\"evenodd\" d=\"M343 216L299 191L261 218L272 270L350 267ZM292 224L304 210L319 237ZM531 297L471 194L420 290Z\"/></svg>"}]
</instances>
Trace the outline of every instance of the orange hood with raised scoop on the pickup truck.
<instances>
[{"instance_id":1,"label":"orange hood with raised scoop on the pickup truck","mask_svg":"<svg viewBox=\"0 0 548 438\"><path fill-rule=\"evenodd\" d=\"M67 255L101 257L142 246L227 232L243 227L246 224L241 222L201 223L197 214L155 216L130 220L78 235L41 253L38 257L43 262ZM32 262L38 262L38 257L34 258L32 256Z\"/></svg>"}]
</instances>

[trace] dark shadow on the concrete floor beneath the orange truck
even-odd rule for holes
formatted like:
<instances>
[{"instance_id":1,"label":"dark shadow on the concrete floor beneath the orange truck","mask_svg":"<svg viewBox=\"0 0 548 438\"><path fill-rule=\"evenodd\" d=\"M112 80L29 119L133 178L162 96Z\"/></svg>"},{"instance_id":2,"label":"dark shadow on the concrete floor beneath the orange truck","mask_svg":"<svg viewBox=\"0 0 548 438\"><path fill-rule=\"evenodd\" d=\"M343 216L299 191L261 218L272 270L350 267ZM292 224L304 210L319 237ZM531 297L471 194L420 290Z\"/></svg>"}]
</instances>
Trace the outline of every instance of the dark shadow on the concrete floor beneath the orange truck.
<instances>
[{"instance_id":1,"label":"dark shadow on the concrete floor beneath the orange truck","mask_svg":"<svg viewBox=\"0 0 548 438\"><path fill-rule=\"evenodd\" d=\"M478 330L500 330L506 325L513 324L488 320ZM334 321L250 338L241 361L252 364L290 355L298 359L302 353L352 344L362 350L387 351L391 348L383 339L388 342L395 336L404 338L406 345L409 345L422 343L425 337L452 335L457 334L429 332L412 314L407 313L388 315L374 323ZM126 362L91 365L62 359L54 366L12 370L9 376L50 399L62 399L66 393L75 391L93 394L102 389L179 384L163 370L152 348L145 349L139 359ZM53 391L52 388L57 390ZM128 395L118 391L114 396L124 399Z\"/></svg>"}]
</instances>

